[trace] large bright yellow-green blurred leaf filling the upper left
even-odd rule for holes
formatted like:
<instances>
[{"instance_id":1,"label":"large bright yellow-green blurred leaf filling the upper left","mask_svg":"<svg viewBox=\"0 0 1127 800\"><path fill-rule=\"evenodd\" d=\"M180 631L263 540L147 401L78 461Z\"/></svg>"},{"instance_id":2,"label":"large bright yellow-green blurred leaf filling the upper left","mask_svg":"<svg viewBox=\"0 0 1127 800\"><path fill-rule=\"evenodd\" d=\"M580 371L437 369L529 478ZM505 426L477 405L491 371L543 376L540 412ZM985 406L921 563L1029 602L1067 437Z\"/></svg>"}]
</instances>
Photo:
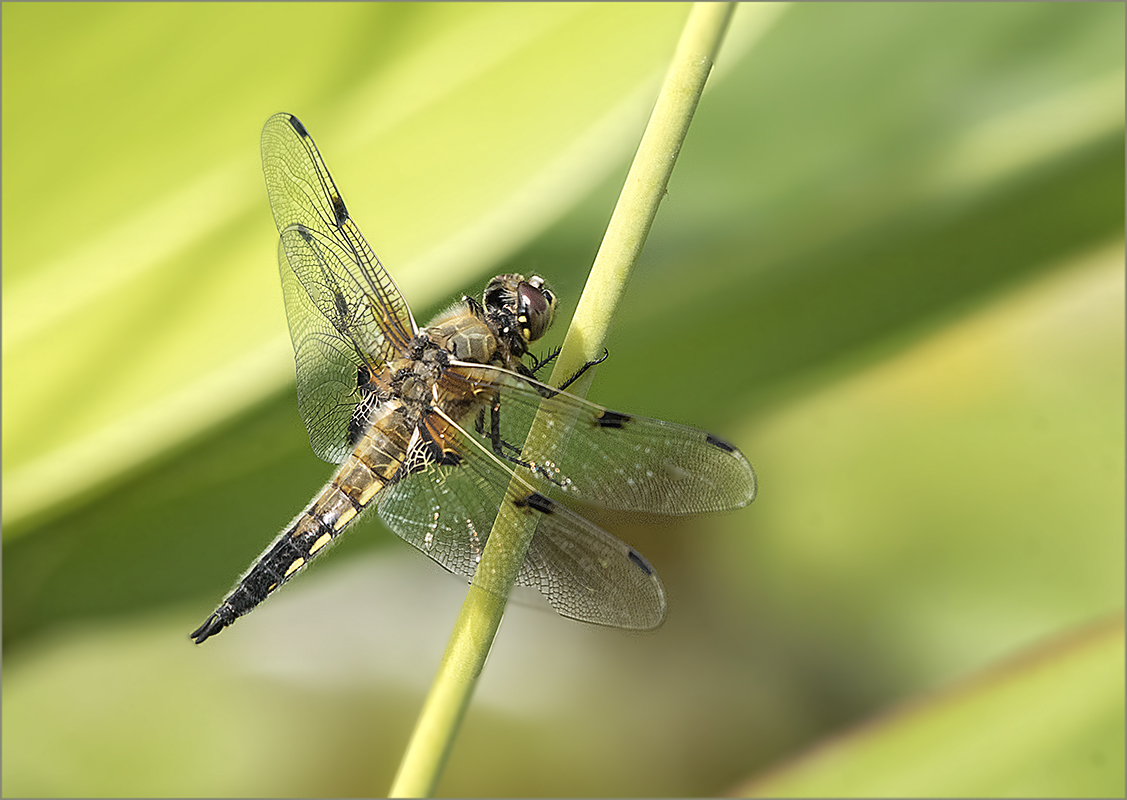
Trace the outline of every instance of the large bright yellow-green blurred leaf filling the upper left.
<instances>
[{"instance_id":1,"label":"large bright yellow-green blurred leaf filling the upper left","mask_svg":"<svg viewBox=\"0 0 1127 800\"><path fill-rule=\"evenodd\" d=\"M258 160L272 113L305 122L425 308L629 153L684 15L6 8L6 537L292 381ZM114 57L85 60L90 35L121 37ZM362 42L379 56L356 69L323 57Z\"/></svg>"}]
</instances>

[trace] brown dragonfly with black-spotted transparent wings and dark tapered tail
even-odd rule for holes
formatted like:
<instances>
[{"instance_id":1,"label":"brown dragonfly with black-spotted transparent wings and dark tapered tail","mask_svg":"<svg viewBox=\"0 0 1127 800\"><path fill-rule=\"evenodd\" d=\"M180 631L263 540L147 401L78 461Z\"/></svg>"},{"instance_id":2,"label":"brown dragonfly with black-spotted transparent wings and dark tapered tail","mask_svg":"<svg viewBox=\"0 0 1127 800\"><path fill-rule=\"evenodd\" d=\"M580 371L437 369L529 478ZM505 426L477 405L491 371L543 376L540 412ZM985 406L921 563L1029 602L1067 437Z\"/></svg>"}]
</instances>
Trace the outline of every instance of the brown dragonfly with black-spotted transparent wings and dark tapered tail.
<instances>
[{"instance_id":1,"label":"brown dragonfly with black-spotted transparent wings and dark tapered tail","mask_svg":"<svg viewBox=\"0 0 1127 800\"><path fill-rule=\"evenodd\" d=\"M472 578L508 506L534 526L517 585L582 622L657 628L666 595L654 567L584 508L675 516L746 506L756 478L744 454L703 430L568 393L597 361L559 386L539 380L558 355L529 350L556 317L540 276L498 275L480 301L463 296L419 328L296 117L267 121L261 157L298 408L313 451L337 466L193 631L195 642L257 607L372 507L409 544ZM530 437L538 412L545 433Z\"/></svg>"}]
</instances>

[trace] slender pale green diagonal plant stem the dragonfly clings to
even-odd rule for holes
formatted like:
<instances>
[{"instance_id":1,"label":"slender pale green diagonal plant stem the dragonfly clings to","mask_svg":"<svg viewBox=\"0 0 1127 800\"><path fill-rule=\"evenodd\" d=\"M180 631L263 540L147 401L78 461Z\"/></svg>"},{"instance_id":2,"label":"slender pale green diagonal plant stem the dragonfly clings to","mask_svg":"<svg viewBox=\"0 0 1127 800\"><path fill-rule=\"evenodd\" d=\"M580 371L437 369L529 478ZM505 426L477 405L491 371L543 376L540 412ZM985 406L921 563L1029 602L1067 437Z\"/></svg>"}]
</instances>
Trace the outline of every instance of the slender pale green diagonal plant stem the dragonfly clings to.
<instances>
[{"instance_id":1,"label":"slender pale green diagonal plant stem the dragonfly clings to","mask_svg":"<svg viewBox=\"0 0 1127 800\"><path fill-rule=\"evenodd\" d=\"M556 361L550 379L553 385L601 354L610 320L665 196L669 175L734 9L734 3L696 3L689 14L669 72ZM585 394L591 377L588 372L569 391ZM536 434L541 423L538 415L530 437ZM434 793L492 646L509 589L524 562L534 531L534 525L529 523L529 518L513 513L511 504L502 505L438 674L392 783L392 797Z\"/></svg>"}]
</instances>

